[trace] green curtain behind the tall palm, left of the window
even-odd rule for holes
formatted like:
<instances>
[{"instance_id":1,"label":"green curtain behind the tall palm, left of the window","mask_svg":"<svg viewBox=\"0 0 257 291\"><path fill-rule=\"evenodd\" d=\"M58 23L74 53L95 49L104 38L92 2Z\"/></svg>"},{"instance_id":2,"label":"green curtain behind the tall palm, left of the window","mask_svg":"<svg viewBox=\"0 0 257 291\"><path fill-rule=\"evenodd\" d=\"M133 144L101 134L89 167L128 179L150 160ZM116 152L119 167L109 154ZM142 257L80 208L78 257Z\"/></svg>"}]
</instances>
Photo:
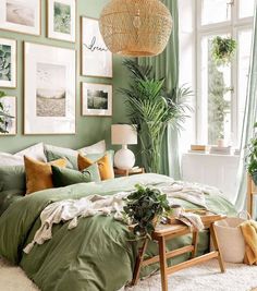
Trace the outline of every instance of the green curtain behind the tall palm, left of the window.
<instances>
[{"instance_id":1,"label":"green curtain behind the tall palm, left of the window","mask_svg":"<svg viewBox=\"0 0 257 291\"><path fill-rule=\"evenodd\" d=\"M152 65L157 78L166 78L166 88L171 92L179 86L179 8L178 0L163 0L171 11L173 28L166 50L152 58L139 58L138 63ZM180 155L179 155L179 133L168 126L161 153L162 173L174 179L181 179Z\"/></svg>"}]
</instances>

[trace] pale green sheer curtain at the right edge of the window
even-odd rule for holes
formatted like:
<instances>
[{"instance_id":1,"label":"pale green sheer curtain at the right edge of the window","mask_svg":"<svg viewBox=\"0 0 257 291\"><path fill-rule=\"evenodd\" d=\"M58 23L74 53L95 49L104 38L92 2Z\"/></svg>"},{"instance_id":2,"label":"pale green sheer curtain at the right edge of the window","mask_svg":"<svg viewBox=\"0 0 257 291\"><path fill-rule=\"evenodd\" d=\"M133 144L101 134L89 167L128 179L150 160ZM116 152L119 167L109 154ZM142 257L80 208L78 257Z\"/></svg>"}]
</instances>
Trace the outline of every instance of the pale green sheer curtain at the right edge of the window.
<instances>
[{"instance_id":1,"label":"pale green sheer curtain at the right edge of the window","mask_svg":"<svg viewBox=\"0 0 257 291\"><path fill-rule=\"evenodd\" d=\"M253 34L253 48L250 58L250 69L248 78L247 98L244 113L244 124L241 137L241 158L240 167L237 172L237 196L235 206L238 210L245 207L246 203L246 168L245 168L245 156L246 145L254 136L254 124L257 121L257 7L255 9L255 27Z\"/></svg>"}]
</instances>

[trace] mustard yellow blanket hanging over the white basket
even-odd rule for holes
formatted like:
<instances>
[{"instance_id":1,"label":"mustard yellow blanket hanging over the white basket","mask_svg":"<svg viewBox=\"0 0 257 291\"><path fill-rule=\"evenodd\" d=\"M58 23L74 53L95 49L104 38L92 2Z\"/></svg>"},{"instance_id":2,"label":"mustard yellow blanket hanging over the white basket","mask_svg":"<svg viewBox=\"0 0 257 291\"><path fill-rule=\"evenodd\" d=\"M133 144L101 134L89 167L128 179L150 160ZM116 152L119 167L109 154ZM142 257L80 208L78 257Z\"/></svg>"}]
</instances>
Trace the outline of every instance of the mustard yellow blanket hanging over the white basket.
<instances>
[{"instance_id":1,"label":"mustard yellow blanket hanging over the white basket","mask_svg":"<svg viewBox=\"0 0 257 291\"><path fill-rule=\"evenodd\" d=\"M257 265L257 222L247 220L240 226L245 240L245 258L247 265Z\"/></svg>"}]
</instances>

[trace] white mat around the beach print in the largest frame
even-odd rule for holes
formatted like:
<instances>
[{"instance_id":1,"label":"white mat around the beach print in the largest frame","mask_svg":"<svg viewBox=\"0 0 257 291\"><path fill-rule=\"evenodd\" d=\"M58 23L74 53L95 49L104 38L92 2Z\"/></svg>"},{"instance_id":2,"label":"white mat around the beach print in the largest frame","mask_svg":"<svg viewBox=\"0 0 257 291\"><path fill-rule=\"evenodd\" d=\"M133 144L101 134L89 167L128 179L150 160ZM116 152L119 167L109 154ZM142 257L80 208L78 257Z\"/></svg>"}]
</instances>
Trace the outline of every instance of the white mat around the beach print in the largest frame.
<instances>
[{"instance_id":1,"label":"white mat around the beach print in the largest frame","mask_svg":"<svg viewBox=\"0 0 257 291\"><path fill-rule=\"evenodd\" d=\"M75 50L25 43L25 134L74 134L76 65ZM65 117L37 117L37 63L65 66Z\"/></svg>"}]
</instances>

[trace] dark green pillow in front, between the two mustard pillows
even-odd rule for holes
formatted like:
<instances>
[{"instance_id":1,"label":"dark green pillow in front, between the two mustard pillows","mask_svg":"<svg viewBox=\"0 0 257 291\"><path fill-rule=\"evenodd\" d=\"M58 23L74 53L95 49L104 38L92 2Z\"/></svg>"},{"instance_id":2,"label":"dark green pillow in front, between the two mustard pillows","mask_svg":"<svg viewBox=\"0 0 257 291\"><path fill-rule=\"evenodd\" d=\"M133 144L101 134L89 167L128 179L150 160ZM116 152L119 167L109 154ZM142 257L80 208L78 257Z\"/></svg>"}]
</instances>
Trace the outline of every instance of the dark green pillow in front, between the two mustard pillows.
<instances>
[{"instance_id":1,"label":"dark green pillow in front, between the two mustard pillows","mask_svg":"<svg viewBox=\"0 0 257 291\"><path fill-rule=\"evenodd\" d=\"M101 178L97 163L93 163L82 172L52 166L52 182L54 187L99 181L101 181Z\"/></svg>"}]
</instances>

